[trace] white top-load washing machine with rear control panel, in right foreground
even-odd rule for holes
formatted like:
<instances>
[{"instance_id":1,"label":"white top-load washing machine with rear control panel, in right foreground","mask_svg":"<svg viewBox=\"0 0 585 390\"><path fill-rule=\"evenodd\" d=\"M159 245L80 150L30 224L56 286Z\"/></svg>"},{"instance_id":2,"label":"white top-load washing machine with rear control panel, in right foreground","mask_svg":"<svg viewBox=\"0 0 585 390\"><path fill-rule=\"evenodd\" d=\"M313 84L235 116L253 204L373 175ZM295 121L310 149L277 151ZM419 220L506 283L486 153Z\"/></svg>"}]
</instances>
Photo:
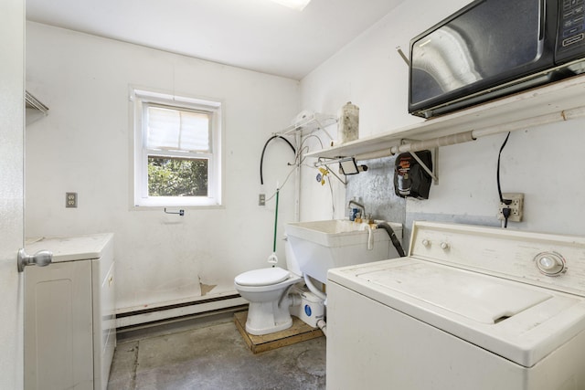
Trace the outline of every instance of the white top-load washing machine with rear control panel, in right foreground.
<instances>
[{"instance_id":1,"label":"white top-load washing machine with rear control panel, in right foreground","mask_svg":"<svg viewBox=\"0 0 585 390\"><path fill-rule=\"evenodd\" d=\"M327 299L328 389L585 389L585 237L415 222Z\"/></svg>"}]
</instances>

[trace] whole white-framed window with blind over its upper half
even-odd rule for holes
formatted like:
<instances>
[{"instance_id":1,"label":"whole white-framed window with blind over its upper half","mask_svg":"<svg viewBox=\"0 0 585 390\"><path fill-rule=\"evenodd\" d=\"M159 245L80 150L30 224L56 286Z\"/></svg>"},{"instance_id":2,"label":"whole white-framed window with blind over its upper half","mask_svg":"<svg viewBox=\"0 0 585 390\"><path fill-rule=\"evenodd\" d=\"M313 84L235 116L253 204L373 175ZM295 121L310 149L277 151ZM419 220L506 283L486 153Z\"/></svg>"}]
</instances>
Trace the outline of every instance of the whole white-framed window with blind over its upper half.
<instances>
[{"instance_id":1,"label":"whole white-framed window with blind over its upper half","mask_svg":"<svg viewBox=\"0 0 585 390\"><path fill-rule=\"evenodd\" d=\"M221 104L132 90L134 206L221 205Z\"/></svg>"}]
</instances>

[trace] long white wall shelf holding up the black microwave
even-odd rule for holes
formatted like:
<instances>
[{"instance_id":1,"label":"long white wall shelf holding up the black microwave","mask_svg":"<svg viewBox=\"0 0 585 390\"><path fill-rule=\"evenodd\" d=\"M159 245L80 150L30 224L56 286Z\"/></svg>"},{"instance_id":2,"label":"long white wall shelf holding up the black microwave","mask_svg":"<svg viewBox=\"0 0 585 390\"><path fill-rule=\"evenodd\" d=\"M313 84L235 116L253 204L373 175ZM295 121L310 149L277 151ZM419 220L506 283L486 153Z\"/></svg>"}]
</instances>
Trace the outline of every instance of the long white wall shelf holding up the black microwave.
<instances>
[{"instance_id":1,"label":"long white wall shelf holding up the black microwave","mask_svg":"<svg viewBox=\"0 0 585 390\"><path fill-rule=\"evenodd\" d=\"M307 153L306 156L324 158L352 156L357 160L367 160L472 141L485 135L568 121L581 116L585 116L585 75Z\"/></svg>"}]
</instances>

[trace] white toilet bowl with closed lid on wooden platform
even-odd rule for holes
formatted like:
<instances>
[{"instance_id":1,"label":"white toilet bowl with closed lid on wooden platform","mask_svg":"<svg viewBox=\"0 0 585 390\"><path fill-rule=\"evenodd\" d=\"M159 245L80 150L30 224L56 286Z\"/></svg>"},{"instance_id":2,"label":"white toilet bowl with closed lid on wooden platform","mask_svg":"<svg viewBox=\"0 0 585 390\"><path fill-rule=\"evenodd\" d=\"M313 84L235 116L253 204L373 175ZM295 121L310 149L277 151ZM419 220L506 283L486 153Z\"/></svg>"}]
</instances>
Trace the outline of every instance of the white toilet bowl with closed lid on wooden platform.
<instances>
[{"instance_id":1,"label":"white toilet bowl with closed lid on wooden platform","mask_svg":"<svg viewBox=\"0 0 585 390\"><path fill-rule=\"evenodd\" d=\"M303 280L280 267L253 269L239 274L234 285L239 295L250 302L246 332L255 335L279 332L293 325L289 307L290 290Z\"/></svg>"}]
</instances>

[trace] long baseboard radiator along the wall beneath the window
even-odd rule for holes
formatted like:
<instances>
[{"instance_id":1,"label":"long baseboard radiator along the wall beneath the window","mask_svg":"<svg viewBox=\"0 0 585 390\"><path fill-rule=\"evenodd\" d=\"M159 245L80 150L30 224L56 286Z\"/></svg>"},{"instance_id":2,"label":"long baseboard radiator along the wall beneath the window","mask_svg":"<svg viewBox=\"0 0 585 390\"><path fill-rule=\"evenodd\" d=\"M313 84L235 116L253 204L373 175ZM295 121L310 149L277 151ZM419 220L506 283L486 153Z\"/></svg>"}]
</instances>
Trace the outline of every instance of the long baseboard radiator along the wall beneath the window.
<instances>
[{"instance_id":1,"label":"long baseboard radiator along the wall beneath the window","mask_svg":"<svg viewBox=\"0 0 585 390\"><path fill-rule=\"evenodd\" d=\"M193 300L169 304L136 311L116 313L116 330L118 332L186 321L196 317L216 315L227 311L241 311L248 306L248 301L239 294Z\"/></svg>"}]
</instances>

